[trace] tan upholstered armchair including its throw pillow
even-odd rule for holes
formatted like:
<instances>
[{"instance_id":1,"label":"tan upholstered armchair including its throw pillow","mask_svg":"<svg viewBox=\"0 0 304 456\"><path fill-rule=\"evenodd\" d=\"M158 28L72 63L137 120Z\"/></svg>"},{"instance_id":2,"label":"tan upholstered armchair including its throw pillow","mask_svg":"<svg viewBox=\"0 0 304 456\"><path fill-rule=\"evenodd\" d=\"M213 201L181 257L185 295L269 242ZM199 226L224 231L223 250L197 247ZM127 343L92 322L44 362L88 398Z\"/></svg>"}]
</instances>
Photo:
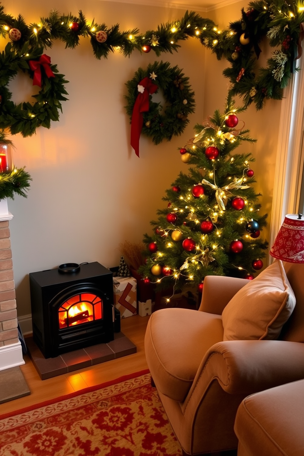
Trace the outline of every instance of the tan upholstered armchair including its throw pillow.
<instances>
[{"instance_id":1,"label":"tan upholstered armchair including its throw pillow","mask_svg":"<svg viewBox=\"0 0 304 456\"><path fill-rule=\"evenodd\" d=\"M147 363L183 454L236 449L242 399L304 378L304 264L285 269L288 280L280 261L252 281L208 276L199 311L151 315Z\"/></svg>"}]
</instances>

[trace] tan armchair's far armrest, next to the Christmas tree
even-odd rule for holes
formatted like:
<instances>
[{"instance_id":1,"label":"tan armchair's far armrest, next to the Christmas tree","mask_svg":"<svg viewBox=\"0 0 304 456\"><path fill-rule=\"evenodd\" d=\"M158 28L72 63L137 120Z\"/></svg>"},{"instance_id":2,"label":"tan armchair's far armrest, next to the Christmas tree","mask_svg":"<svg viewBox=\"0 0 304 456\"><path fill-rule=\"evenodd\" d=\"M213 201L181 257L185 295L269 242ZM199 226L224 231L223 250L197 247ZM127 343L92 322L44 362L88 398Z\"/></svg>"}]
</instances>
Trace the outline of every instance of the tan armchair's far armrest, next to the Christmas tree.
<instances>
[{"instance_id":1,"label":"tan armchair's far armrest, next to the Christmas tree","mask_svg":"<svg viewBox=\"0 0 304 456\"><path fill-rule=\"evenodd\" d=\"M204 279L199 311L222 315L228 302L247 283L247 279L225 275L207 275Z\"/></svg>"}]
</instances>

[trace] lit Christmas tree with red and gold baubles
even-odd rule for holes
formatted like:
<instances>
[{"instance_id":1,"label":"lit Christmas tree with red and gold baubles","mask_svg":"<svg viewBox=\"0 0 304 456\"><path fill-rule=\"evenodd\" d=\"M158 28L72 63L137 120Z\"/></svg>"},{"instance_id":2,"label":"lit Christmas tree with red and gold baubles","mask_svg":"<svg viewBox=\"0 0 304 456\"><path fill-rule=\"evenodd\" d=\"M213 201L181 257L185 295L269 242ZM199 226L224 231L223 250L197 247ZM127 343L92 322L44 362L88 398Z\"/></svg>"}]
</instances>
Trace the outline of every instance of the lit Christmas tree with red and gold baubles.
<instances>
[{"instance_id":1,"label":"lit Christmas tree with red and gold baubles","mask_svg":"<svg viewBox=\"0 0 304 456\"><path fill-rule=\"evenodd\" d=\"M252 187L254 158L235 152L242 142L256 141L240 128L237 114L244 109L228 96L225 112L197 124L195 137L180 149L182 161L193 166L166 191L168 205L150 222L153 235L144 235L144 282L201 290L206 275L253 279L263 268L267 214L260 215L261 194Z\"/></svg>"}]
</instances>

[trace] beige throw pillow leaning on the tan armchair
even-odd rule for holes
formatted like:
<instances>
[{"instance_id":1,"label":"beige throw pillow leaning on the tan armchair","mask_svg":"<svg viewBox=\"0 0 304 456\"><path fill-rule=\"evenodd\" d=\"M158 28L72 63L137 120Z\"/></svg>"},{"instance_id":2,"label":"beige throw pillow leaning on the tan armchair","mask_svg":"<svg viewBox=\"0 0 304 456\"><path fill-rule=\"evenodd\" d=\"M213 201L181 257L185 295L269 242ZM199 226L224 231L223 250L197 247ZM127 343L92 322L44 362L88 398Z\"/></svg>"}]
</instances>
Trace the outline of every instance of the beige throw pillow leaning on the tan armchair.
<instances>
[{"instance_id":1,"label":"beige throw pillow leaning on the tan armchair","mask_svg":"<svg viewBox=\"0 0 304 456\"><path fill-rule=\"evenodd\" d=\"M282 261L276 260L228 302L222 312L224 341L277 339L294 306Z\"/></svg>"}]
</instances>

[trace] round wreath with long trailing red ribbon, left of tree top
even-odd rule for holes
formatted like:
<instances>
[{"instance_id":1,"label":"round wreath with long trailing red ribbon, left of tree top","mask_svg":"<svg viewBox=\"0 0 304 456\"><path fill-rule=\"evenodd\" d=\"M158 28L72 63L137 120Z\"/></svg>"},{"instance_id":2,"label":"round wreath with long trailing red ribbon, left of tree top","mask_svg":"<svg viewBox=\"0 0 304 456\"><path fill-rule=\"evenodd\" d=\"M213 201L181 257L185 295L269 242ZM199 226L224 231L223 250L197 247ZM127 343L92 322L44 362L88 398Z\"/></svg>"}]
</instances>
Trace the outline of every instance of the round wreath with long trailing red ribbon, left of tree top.
<instances>
[{"instance_id":1,"label":"round wreath with long trailing red ribbon, left of tree top","mask_svg":"<svg viewBox=\"0 0 304 456\"><path fill-rule=\"evenodd\" d=\"M131 122L131 145L137 156L141 133L159 144L184 131L188 116L195 109L194 92L188 81L179 67L170 67L169 62L154 62L146 70L139 68L126 83L128 105L125 108ZM159 90L165 99L164 112L161 104L152 99L152 94Z\"/></svg>"}]
</instances>

